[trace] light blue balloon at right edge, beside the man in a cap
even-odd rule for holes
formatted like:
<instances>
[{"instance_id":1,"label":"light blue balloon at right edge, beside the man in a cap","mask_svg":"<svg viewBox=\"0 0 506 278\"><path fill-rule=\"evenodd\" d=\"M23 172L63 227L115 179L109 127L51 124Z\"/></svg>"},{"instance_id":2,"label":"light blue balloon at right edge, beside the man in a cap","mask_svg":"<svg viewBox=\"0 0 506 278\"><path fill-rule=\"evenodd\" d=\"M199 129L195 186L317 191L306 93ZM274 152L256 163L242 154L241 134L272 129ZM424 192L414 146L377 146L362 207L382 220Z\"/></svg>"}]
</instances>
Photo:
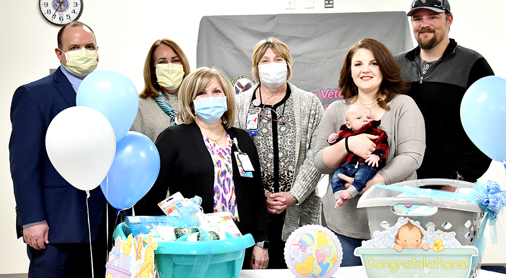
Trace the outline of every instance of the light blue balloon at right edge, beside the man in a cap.
<instances>
[{"instance_id":1,"label":"light blue balloon at right edge, beside the man in a cap","mask_svg":"<svg viewBox=\"0 0 506 278\"><path fill-rule=\"evenodd\" d=\"M460 120L478 149L493 160L505 161L506 79L487 76L474 82L462 98Z\"/></svg>"}]
</instances>

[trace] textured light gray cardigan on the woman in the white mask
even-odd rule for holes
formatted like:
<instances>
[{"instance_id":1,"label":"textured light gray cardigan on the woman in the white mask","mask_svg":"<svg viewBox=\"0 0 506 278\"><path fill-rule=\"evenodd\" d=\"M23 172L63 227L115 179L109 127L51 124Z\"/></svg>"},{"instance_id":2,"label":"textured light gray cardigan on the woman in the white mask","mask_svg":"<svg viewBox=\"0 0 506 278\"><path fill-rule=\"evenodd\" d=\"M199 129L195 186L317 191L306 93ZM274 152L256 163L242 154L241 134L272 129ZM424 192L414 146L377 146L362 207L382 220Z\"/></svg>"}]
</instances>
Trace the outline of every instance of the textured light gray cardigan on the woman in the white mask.
<instances>
[{"instance_id":1,"label":"textured light gray cardigan on the woman in the white mask","mask_svg":"<svg viewBox=\"0 0 506 278\"><path fill-rule=\"evenodd\" d=\"M281 237L284 241L300 226L320 224L321 202L318 197L317 184L321 175L313 164L313 151L316 134L318 134L318 124L323 115L323 106L315 95L287 83L291 89L297 127L295 146L293 146L297 160L293 183L288 193L297 199L297 203L286 208ZM246 129L249 104L259 85L260 83L236 96L235 127Z\"/></svg>"}]
</instances>

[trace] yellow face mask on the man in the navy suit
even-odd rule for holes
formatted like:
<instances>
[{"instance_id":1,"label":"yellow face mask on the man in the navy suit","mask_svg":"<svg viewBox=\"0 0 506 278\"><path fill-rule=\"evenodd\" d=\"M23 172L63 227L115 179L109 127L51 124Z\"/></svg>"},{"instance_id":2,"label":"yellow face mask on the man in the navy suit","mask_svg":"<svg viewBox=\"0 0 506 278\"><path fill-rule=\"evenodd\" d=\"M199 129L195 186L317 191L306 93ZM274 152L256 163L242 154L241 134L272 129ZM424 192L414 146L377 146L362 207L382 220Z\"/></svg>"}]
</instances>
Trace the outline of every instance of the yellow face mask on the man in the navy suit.
<instances>
[{"instance_id":1,"label":"yellow face mask on the man in the navy suit","mask_svg":"<svg viewBox=\"0 0 506 278\"><path fill-rule=\"evenodd\" d=\"M74 75L85 77L97 68L98 53L96 51L85 48L67 53L60 51L65 54L65 60L67 60L67 64L63 66Z\"/></svg>"}]
</instances>

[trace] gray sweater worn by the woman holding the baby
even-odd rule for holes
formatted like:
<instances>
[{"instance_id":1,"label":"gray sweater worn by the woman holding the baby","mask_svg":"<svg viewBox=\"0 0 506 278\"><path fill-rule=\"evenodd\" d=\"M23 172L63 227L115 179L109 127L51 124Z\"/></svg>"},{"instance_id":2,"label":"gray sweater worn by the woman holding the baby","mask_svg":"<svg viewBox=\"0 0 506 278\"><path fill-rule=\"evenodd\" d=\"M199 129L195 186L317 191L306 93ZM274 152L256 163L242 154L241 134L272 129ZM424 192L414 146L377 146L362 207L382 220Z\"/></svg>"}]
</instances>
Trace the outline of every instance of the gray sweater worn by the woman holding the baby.
<instances>
[{"instance_id":1,"label":"gray sweater worn by the woman holding the baby","mask_svg":"<svg viewBox=\"0 0 506 278\"><path fill-rule=\"evenodd\" d=\"M390 151L387 155L387 165L378 173L385 178L387 184L392 184L416 179L416 169L420 166L425 152L425 123L420 110L408 96L396 96L389 103L389 107L390 110L383 114L378 128L387 132ZM320 122L313 161L318 171L330 174L327 192L322 198L327 226L347 237L370 239L366 211L357 209L361 195L348 200L345 206L334 208L335 198L330 179L335 169L328 167L322 157L323 149L330 146L327 142L328 136L339 132L339 127L346 122L348 108L349 105L342 100L328 106Z\"/></svg>"}]
</instances>

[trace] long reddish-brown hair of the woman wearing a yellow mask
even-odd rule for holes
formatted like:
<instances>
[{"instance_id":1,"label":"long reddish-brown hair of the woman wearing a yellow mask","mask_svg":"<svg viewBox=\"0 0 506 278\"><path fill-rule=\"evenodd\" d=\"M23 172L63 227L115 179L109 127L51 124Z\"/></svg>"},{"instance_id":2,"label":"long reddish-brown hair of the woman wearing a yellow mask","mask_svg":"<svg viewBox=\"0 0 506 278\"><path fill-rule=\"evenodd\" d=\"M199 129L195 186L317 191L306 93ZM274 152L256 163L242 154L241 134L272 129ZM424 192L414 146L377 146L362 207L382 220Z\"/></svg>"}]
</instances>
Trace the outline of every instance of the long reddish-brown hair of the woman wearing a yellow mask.
<instances>
[{"instance_id":1,"label":"long reddish-brown hair of the woman wearing a yellow mask","mask_svg":"<svg viewBox=\"0 0 506 278\"><path fill-rule=\"evenodd\" d=\"M188 58L186 58L185 53L176 42L168 38L156 40L153 43L153 45L151 45L151 48L149 49L148 52L148 56L146 56L146 61L144 62L144 73L143 73L144 89L141 91L141 94L139 95L139 97L142 99L154 98L155 96L158 95L158 92L161 90L160 85L158 85L158 82L156 80L154 55L156 49L162 44L165 44L167 45L167 47L172 48L172 50L179 57L179 59L181 60L181 64L183 64L185 77L190 73L190 64L188 63Z\"/></svg>"}]
</instances>

